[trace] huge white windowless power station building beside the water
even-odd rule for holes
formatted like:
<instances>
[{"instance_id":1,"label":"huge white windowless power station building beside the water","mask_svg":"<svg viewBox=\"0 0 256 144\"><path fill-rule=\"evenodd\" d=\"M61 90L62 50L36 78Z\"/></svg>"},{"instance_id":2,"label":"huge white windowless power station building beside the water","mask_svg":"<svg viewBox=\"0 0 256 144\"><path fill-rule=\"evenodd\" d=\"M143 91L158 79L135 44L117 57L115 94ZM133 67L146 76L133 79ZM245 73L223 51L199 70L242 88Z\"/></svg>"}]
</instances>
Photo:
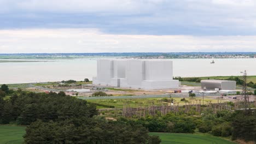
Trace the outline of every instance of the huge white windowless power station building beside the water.
<instances>
[{"instance_id":1,"label":"huge white windowless power station building beside the water","mask_svg":"<svg viewBox=\"0 0 256 144\"><path fill-rule=\"evenodd\" d=\"M179 81L173 80L172 61L139 59L99 59L94 85L166 89L178 88Z\"/></svg>"}]
</instances>

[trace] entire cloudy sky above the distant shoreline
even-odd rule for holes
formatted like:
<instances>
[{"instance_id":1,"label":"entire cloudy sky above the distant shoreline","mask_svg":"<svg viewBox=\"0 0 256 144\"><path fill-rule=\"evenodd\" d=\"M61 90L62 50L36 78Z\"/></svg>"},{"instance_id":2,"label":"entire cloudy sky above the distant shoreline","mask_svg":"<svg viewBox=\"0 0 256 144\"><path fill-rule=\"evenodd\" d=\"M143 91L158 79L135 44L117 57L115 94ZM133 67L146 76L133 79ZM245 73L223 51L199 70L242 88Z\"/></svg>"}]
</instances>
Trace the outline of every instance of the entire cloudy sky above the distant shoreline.
<instances>
[{"instance_id":1,"label":"entire cloudy sky above the distant shoreline","mask_svg":"<svg viewBox=\"0 0 256 144\"><path fill-rule=\"evenodd\" d=\"M0 0L0 53L256 52L256 0Z\"/></svg>"}]
</instances>

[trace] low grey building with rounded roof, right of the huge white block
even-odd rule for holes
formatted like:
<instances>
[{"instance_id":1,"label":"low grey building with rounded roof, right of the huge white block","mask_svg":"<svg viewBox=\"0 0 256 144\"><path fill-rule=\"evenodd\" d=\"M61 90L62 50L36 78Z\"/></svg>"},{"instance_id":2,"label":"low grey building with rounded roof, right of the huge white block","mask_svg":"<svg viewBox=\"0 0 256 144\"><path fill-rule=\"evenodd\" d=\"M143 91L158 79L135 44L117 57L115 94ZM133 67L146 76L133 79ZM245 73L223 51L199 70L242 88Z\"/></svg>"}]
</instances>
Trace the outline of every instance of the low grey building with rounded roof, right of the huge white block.
<instances>
[{"instance_id":1,"label":"low grey building with rounded roof, right of the huge white block","mask_svg":"<svg viewBox=\"0 0 256 144\"><path fill-rule=\"evenodd\" d=\"M201 80L202 89L207 90L235 90L236 81L226 81L226 80Z\"/></svg>"}]
</instances>

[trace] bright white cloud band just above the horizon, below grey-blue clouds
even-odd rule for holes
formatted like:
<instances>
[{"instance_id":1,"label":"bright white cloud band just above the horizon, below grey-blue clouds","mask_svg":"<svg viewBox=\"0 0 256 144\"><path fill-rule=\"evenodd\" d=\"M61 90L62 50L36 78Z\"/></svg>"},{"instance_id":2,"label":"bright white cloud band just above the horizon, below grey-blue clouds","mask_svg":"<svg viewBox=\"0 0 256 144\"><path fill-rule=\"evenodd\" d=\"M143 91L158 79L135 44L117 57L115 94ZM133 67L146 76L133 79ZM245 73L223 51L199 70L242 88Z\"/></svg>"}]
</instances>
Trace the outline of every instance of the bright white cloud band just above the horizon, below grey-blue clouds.
<instances>
[{"instance_id":1,"label":"bright white cloud band just above the horizon, below grey-blue clouds","mask_svg":"<svg viewBox=\"0 0 256 144\"><path fill-rule=\"evenodd\" d=\"M0 30L0 53L256 51L256 36L118 35L97 29Z\"/></svg>"}]
</instances>

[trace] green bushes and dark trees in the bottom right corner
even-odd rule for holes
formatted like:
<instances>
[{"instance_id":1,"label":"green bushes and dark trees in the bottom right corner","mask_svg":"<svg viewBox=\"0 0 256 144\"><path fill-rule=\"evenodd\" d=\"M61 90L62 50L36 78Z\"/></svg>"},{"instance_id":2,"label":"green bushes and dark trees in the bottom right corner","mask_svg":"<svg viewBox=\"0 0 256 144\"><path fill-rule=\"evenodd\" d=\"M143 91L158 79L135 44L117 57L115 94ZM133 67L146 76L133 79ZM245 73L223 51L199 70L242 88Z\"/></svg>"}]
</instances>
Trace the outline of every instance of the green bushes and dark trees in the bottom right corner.
<instances>
[{"instance_id":1,"label":"green bushes and dark trees in the bottom right corner","mask_svg":"<svg viewBox=\"0 0 256 144\"><path fill-rule=\"evenodd\" d=\"M197 121L201 133L231 136L232 140L256 141L256 111L208 111Z\"/></svg>"}]
</instances>

